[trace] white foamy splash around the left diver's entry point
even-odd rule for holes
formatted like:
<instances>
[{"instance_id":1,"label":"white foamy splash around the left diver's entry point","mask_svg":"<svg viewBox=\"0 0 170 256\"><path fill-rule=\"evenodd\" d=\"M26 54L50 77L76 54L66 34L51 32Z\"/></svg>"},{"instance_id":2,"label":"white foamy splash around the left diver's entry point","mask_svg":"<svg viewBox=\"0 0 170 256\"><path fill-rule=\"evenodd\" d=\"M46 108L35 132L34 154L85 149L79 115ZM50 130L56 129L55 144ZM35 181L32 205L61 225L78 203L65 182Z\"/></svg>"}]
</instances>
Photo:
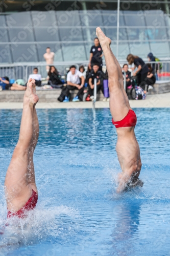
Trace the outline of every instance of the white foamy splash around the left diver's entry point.
<instances>
[{"instance_id":1,"label":"white foamy splash around the left diver's entry point","mask_svg":"<svg viewBox=\"0 0 170 256\"><path fill-rule=\"evenodd\" d=\"M0 229L4 230L4 234L0 235L0 255L2 248L7 246L34 244L49 237L54 239L60 236L63 229L61 221L58 223L59 216L62 215L63 219L70 218L70 222L79 216L77 210L64 205L49 208L43 208L43 206L44 202L34 210L28 211L25 219L17 217L6 219L6 206L0 204ZM5 226L6 223L8 226Z\"/></svg>"}]
</instances>

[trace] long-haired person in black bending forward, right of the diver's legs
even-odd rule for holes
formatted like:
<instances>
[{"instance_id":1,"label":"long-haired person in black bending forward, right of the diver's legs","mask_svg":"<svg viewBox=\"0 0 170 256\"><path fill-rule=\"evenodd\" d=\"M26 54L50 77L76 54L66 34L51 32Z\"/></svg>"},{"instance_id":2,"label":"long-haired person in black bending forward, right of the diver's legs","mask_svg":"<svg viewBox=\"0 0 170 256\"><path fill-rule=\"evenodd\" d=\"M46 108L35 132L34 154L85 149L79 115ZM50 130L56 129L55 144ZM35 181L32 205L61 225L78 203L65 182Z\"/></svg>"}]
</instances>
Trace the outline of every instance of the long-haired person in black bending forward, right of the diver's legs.
<instances>
[{"instance_id":1,"label":"long-haired person in black bending forward, right of the diver's legs","mask_svg":"<svg viewBox=\"0 0 170 256\"><path fill-rule=\"evenodd\" d=\"M133 73L133 76L137 76L138 86L145 90L145 79L147 78L149 72L148 66L144 63L144 61L141 58L132 54L129 54L127 56L127 60L129 65L132 65L132 63L134 63L135 68L137 67L137 70Z\"/></svg>"}]
</instances>

